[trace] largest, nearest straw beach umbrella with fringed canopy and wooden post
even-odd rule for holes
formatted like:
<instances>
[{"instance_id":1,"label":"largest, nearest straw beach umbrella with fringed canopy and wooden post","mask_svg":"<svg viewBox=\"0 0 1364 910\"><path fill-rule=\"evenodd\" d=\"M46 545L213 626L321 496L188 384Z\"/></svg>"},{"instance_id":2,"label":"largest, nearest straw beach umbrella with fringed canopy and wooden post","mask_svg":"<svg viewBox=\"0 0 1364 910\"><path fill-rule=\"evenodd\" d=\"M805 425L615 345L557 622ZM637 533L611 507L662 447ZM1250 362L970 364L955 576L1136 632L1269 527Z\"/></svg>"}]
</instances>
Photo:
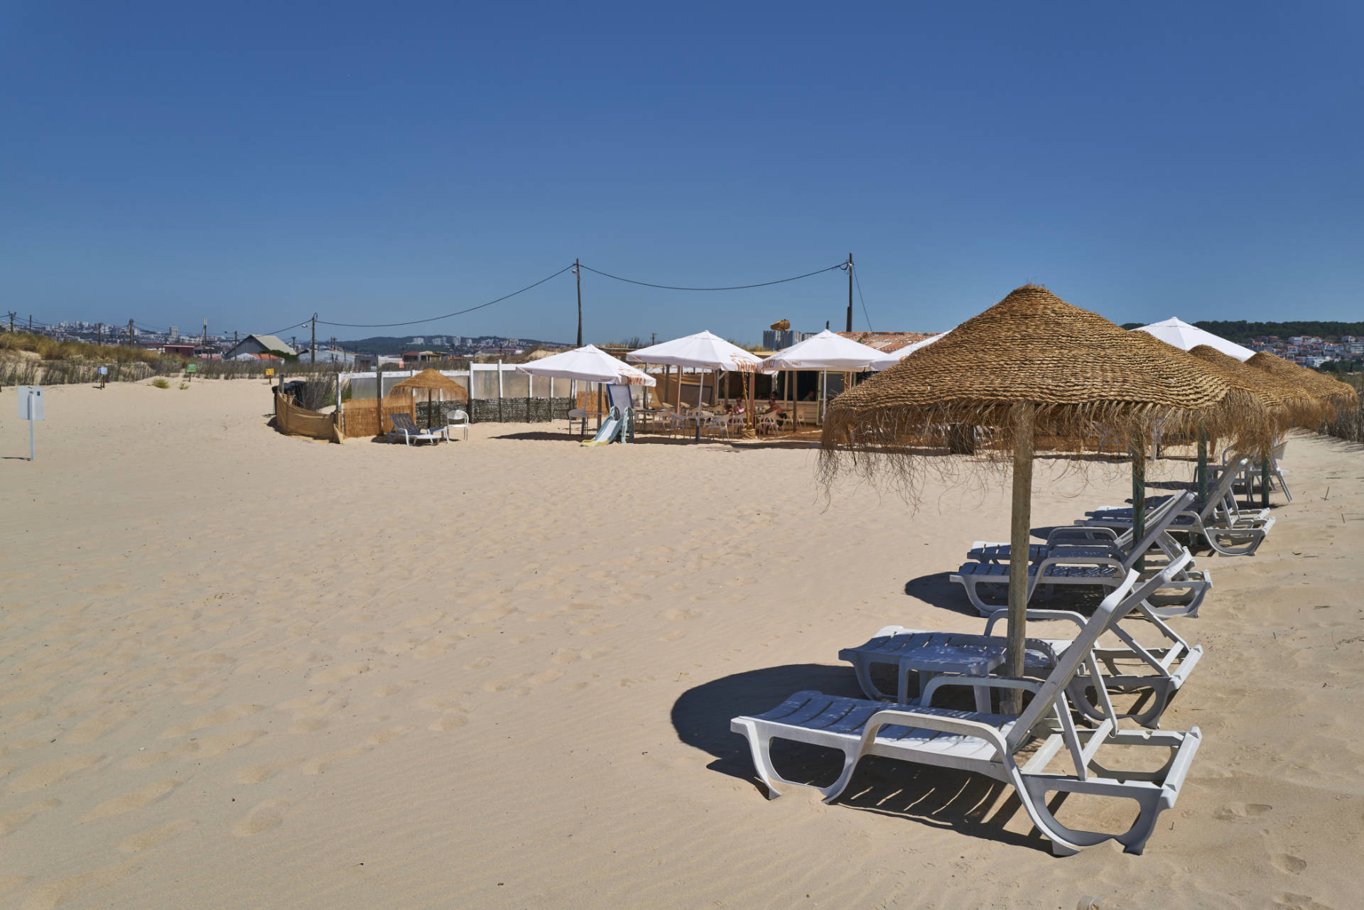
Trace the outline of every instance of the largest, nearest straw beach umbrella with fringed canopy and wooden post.
<instances>
[{"instance_id":1,"label":"largest, nearest straw beach umbrella with fringed canopy and wooden post","mask_svg":"<svg viewBox=\"0 0 1364 910\"><path fill-rule=\"evenodd\" d=\"M1158 424L1222 428L1237 397L1225 381L1132 340L1108 319L1024 285L945 338L833 400L821 473L887 478L917 490L907 438L933 424L1001 428L1013 454L1012 551L1028 547L1034 428L1080 439L1095 427L1144 439ZM1020 557L1018 565L1024 565ZM1008 673L1023 673L1027 573L1009 573Z\"/></svg>"}]
</instances>

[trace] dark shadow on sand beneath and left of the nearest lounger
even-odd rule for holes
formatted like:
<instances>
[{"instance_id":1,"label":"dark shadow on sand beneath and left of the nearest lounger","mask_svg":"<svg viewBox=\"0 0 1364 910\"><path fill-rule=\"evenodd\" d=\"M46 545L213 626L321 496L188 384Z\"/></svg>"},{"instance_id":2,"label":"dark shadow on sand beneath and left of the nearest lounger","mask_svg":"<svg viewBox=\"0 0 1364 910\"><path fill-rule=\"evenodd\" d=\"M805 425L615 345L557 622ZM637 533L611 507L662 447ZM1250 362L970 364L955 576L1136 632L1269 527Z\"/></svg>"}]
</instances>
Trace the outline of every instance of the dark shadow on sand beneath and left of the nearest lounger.
<instances>
[{"instance_id":1,"label":"dark shadow on sand beneath and left of the nearest lounger","mask_svg":"<svg viewBox=\"0 0 1364 910\"><path fill-rule=\"evenodd\" d=\"M730 719L769 711L802 689L861 697L851 667L813 663L767 667L687 689L672 705L672 727L678 739L715 757L707 765L711 771L752 783L757 791L753 808L760 810L757 802L760 794L767 795L765 787L753 772L747 742L730 730ZM798 744L773 744L772 759L788 780L816 784L836 779L842 767L840 753ZM1005 784L979 775L872 756L858 763L837 802L974 838L1049 851L1048 842L1035 830L1026 835L1005 830L1004 825L1022 813L1018 795Z\"/></svg>"}]
</instances>

